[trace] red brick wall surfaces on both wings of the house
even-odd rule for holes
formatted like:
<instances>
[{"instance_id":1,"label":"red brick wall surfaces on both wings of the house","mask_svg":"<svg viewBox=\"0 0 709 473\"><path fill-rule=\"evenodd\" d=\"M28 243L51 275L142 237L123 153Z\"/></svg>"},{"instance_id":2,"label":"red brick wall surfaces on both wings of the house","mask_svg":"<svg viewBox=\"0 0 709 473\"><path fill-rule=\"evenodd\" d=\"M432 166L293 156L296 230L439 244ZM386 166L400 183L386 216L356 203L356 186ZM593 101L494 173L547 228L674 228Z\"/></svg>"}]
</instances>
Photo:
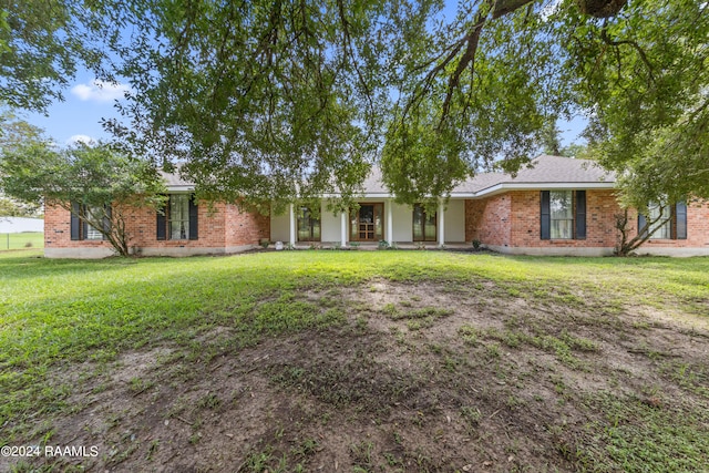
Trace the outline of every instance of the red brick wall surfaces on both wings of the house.
<instances>
[{"instance_id":1,"label":"red brick wall surfaces on both wings of the house","mask_svg":"<svg viewBox=\"0 0 709 473\"><path fill-rule=\"evenodd\" d=\"M541 191L507 191L465 199L465 240L480 240L496 250L525 254L610 254L617 244L615 215L620 207L613 189L586 189L586 238L541 238ZM197 207L198 238L157 239L156 213L126 210L130 247L142 255L187 256L224 254L255 247L270 239L271 218L236 205L217 203ZM630 235L636 235L637 213L630 212ZM461 223L462 224L462 223ZM45 255L49 257L102 257L112 253L107 241L72 240L69 210L48 206L44 215ZM650 239L639 253L709 255L709 202L687 207L686 239Z\"/></svg>"}]
</instances>

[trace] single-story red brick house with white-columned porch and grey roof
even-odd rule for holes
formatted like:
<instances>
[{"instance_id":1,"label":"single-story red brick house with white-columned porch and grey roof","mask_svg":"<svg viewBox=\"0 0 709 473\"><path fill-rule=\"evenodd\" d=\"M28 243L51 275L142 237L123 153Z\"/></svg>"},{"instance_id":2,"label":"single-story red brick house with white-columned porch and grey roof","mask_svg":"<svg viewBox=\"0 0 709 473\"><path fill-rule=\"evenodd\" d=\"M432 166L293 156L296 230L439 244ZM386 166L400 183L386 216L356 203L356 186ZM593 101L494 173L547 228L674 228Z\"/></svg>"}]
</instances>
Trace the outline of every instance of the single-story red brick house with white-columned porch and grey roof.
<instances>
[{"instance_id":1,"label":"single-story red brick house with white-columned porch and grey roof","mask_svg":"<svg viewBox=\"0 0 709 473\"><path fill-rule=\"evenodd\" d=\"M260 215L217 203L209 210L192 199L194 186L166 175L164 214L137 209L127 222L131 247L141 255L230 254L260 241L294 247L388 243L453 246L477 240L506 254L603 256L613 254L620 213L615 177L590 161L542 155L516 176L484 173L453 189L438 212L397 204L374 168L364 182L359 208L333 215L290 205L286 215ZM678 204L671 218L639 250L668 256L709 255L709 203ZM641 215L633 214L631 235ZM48 206L44 254L51 258L112 255L101 234L70 212Z\"/></svg>"}]
</instances>

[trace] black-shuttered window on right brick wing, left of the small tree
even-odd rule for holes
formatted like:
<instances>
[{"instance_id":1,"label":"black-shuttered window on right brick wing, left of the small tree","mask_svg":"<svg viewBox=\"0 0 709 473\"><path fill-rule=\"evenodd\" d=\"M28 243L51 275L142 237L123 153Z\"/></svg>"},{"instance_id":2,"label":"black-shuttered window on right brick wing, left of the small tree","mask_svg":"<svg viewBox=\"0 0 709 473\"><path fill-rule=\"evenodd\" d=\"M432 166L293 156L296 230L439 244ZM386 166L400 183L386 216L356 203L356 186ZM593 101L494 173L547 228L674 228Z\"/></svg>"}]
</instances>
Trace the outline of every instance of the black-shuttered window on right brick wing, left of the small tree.
<instances>
[{"instance_id":1,"label":"black-shuttered window on right brick wing, left of the small tree","mask_svg":"<svg viewBox=\"0 0 709 473\"><path fill-rule=\"evenodd\" d=\"M586 238L586 191L542 191L542 239Z\"/></svg>"}]
</instances>

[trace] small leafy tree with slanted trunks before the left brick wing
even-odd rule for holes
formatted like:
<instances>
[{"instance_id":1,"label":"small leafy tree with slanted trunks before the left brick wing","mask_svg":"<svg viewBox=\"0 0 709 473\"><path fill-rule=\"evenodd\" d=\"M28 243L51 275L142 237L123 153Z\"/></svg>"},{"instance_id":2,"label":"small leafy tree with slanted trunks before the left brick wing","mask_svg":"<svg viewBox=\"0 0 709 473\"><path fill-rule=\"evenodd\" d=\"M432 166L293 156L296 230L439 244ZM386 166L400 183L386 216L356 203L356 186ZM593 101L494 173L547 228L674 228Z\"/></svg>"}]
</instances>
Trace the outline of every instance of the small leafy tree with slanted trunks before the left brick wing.
<instances>
[{"instance_id":1,"label":"small leafy tree with slanted trunks before the left brick wing","mask_svg":"<svg viewBox=\"0 0 709 473\"><path fill-rule=\"evenodd\" d=\"M122 256L129 254L131 240L126 210L157 209L165 202L163 179L150 163L102 143L55 150L47 141L30 140L6 146L0 189L20 202L43 200L71 212Z\"/></svg>"}]
</instances>

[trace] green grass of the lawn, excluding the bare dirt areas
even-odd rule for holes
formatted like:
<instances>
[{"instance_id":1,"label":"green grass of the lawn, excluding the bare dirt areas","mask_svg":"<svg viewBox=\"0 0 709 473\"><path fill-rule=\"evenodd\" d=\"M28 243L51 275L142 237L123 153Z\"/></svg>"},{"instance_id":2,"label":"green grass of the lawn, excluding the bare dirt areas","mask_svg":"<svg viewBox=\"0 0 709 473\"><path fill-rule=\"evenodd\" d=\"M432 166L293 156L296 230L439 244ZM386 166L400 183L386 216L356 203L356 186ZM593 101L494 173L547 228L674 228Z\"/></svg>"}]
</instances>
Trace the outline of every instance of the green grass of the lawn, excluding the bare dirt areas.
<instances>
[{"instance_id":1,"label":"green grass of the lawn, excluding the bare dirt areas","mask_svg":"<svg viewBox=\"0 0 709 473\"><path fill-rule=\"evenodd\" d=\"M53 418L82 409L72 405L70 398L72 385L81 382L82 376L86 379L95 376L81 372L79 367L85 363L91 363L94 372L109 370L123 353L166 346L186 353L184 362L205 362L282 335L342 327L349 323L350 309L342 302L340 291L363 287L364 294L370 294L367 288L372 280L400 282L411 288L418 284L435 284L473 301L485 295L501 302L500 307L496 304L483 307L480 302L480 310L500 312L497 317L503 320L500 327L466 323L453 331L454 339L458 337L464 347L459 350L467 351L452 354L452 348L436 346L432 356L443 360L443 374L439 374L441 370L434 364L424 367L434 380L472 369L470 367L476 366L475 353L481 354L482 364L497 370L497 379L508 381L513 374L522 379L517 371L524 367L515 371L505 364L511 350L538 350L557 359L563 367L588 371L594 366L587 357L602 351L603 340L592 337L594 327L613 327L629 308L661 308L668 317L679 318L688 315L706 318L709 313L707 258L280 251L236 257L78 261L44 259L39 251L10 251L0 256L0 445L42 435L51 439ZM319 296L314 298L309 294ZM412 289L405 301L388 302L379 313L389 322L401 323L417 333L449 322L451 308L435 307L421 299ZM517 316L515 307L520 305L548 310L552 313L548 323ZM579 321L589 329L579 335L556 327L555 317L559 311L573 320L577 312L592 313L593 317ZM366 337L369 316L362 313L358 315L358 331L353 337ZM228 330L208 343L199 341L215 328ZM636 330L650 328L641 323ZM404 337L400 330L397 332ZM658 376L675 383L681 392L696 395L701 402L709 398L706 368L665 359L661 354L651 362L657 364ZM284 389L309 394L336 409L360 404L362 411L382 419L428 382L425 377L397 367L384 370L377 367L376 359L354 353L350 361L335 368L314 366L308 370L284 364L273 368L268 374L271 382ZM383 380L393 381L372 384L368 369L381 373ZM73 378L64 376L66 379L58 380L58 373L66 372ZM576 394L559 377L559 373L552 374L554 385L564 394L562 401L571 400L582 411L603 413L589 415L585 424L586 439L593 441L584 444L564 441L566 443L557 445L562 456L574 462L577 469L691 471L707 460L708 420L699 404L658 412L627 395ZM507 381L497 384L508 389ZM518 382L530 385L525 384L530 381ZM127 381L135 397L154 391L157 385L140 377ZM510 409L518 404L521 395L510 392L504 398ZM382 404L384 398L387 402ZM540 404L542 398L535 399L534 404ZM220 393L208 392L203 393L195 405L219 411L226 409L225 400ZM464 419L466 432L496 414L493 411L484 418L472 404L459 405L456 410ZM687 422L681 421L685 418ZM50 421L38 425L37 419ZM421 425L428 421L428 418L421 421ZM554 429L563 435L567 426L549 424L549 431ZM157 448L156 442L144 456L152 459L160 453L163 445ZM311 443L315 441L297 444L292 446L294 452L298 445L305 445L302 449L307 446L310 455ZM376 452L380 450L369 440L350 443L354 469L373 469ZM308 457L302 452L290 455L291 466L292 462ZM390 464L397 463L391 453L387 455ZM420 462L428 462L424 460ZM284 456L263 445L251 451L245 469L261 471L270 465L278 470L277 462L285 462ZM668 466L662 469L662 464Z\"/></svg>"}]
</instances>

